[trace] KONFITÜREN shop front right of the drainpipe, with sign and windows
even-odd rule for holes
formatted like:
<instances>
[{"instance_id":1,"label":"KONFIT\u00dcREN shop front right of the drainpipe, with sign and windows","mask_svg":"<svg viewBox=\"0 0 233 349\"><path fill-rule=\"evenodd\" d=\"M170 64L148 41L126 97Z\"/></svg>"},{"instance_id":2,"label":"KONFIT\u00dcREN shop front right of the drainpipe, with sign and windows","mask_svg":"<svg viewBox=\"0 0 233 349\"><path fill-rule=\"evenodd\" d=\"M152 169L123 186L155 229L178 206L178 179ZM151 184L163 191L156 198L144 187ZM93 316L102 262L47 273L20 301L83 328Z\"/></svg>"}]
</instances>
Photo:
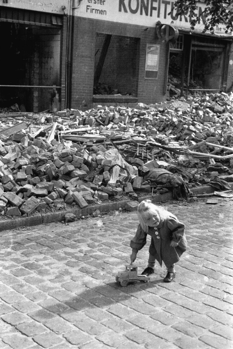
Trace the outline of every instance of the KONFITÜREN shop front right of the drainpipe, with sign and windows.
<instances>
[{"instance_id":1,"label":"KONFIT\u00dcREN shop front right of the drainpipe, with sign and windows","mask_svg":"<svg viewBox=\"0 0 233 349\"><path fill-rule=\"evenodd\" d=\"M203 3L198 7L202 12ZM169 14L170 13L170 14ZM82 0L74 10L69 105L134 106L163 102L175 91L227 91L232 38L192 32L168 0ZM177 81L178 80L178 81ZM170 90L170 91L168 91ZM174 92L175 95L175 92Z\"/></svg>"}]
</instances>

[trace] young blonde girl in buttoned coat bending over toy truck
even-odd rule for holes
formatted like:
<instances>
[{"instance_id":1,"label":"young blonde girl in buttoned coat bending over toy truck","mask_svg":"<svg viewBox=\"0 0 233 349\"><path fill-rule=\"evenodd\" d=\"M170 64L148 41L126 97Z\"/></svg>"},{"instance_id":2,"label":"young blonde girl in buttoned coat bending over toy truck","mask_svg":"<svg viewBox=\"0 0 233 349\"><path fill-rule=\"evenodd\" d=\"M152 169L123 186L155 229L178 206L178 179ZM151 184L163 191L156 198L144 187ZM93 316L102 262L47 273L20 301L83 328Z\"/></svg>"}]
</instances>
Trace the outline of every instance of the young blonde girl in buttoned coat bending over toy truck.
<instances>
[{"instance_id":1,"label":"young blonde girl in buttoned coat bending over toy truck","mask_svg":"<svg viewBox=\"0 0 233 349\"><path fill-rule=\"evenodd\" d=\"M142 201L138 205L137 214L140 224L134 238L130 241L131 264L135 261L137 252L145 246L146 236L150 235L148 266L142 275L153 274L157 260L160 266L164 262L167 268L164 282L171 282L175 277L174 264L180 260L181 254L187 248L185 225L172 213L154 205L151 200Z\"/></svg>"}]
</instances>

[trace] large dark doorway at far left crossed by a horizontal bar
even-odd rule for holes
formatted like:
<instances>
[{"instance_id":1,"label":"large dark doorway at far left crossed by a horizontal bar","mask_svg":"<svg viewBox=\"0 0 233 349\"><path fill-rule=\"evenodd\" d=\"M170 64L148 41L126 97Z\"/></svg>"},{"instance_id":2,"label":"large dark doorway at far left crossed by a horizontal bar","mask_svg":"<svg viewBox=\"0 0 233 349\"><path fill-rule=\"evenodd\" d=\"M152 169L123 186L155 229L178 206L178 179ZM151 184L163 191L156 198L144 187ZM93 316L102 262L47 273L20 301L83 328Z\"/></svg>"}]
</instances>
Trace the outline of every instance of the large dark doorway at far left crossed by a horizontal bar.
<instances>
[{"instance_id":1,"label":"large dark doorway at far left crossed by a horizontal bar","mask_svg":"<svg viewBox=\"0 0 233 349\"><path fill-rule=\"evenodd\" d=\"M60 28L0 22L0 33L0 107L52 110L60 93L53 88L60 84Z\"/></svg>"}]
</instances>

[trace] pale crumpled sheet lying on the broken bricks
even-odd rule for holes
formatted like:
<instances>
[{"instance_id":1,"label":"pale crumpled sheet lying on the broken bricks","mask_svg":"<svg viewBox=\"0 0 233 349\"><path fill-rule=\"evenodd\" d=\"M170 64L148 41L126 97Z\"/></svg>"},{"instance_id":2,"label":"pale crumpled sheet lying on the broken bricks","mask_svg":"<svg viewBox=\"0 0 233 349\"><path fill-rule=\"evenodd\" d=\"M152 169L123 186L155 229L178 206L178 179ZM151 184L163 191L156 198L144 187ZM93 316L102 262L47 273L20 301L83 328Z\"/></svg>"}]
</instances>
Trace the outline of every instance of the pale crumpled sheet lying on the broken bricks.
<instances>
[{"instance_id":1,"label":"pale crumpled sheet lying on the broken bricks","mask_svg":"<svg viewBox=\"0 0 233 349\"><path fill-rule=\"evenodd\" d=\"M103 157L112 162L111 178L108 185L115 185L117 181L122 183L127 179L133 179L138 175L137 167L128 164L117 149L105 151Z\"/></svg>"}]
</instances>

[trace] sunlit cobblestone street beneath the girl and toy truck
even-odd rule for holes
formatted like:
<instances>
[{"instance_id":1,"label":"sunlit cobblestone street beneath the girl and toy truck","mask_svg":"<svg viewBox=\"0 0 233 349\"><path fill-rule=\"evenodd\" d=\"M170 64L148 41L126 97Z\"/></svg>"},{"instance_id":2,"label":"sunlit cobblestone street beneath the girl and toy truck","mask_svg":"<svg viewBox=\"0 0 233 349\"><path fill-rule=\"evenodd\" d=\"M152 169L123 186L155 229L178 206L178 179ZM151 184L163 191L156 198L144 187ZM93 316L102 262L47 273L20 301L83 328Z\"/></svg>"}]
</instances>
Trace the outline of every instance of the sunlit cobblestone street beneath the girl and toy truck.
<instances>
[{"instance_id":1,"label":"sunlit cobblestone street beneath the girl and toy truck","mask_svg":"<svg viewBox=\"0 0 233 349\"><path fill-rule=\"evenodd\" d=\"M0 232L0 348L232 348L233 200L164 207L188 250L123 288L136 212ZM135 264L147 266L150 239Z\"/></svg>"}]
</instances>

